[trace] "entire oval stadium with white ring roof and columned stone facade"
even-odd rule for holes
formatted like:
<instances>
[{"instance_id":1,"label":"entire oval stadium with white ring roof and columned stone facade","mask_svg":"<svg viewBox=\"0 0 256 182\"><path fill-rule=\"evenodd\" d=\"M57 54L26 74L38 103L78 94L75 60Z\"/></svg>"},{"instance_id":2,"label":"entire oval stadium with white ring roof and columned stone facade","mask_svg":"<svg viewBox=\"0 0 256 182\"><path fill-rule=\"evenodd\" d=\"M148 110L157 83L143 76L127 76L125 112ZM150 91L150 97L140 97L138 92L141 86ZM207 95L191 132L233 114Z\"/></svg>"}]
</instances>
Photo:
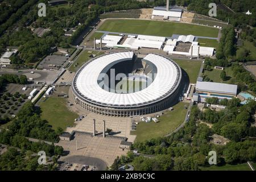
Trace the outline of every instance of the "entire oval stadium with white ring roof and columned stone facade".
<instances>
[{"instance_id":1,"label":"entire oval stadium with white ring roof and columned stone facade","mask_svg":"<svg viewBox=\"0 0 256 182\"><path fill-rule=\"evenodd\" d=\"M116 78L120 73L132 81L130 85L139 80L139 84L146 86L119 92L117 85L121 79ZM150 53L139 58L134 52L115 52L82 65L73 78L72 93L76 104L85 110L114 117L133 117L173 105L179 97L181 77L181 68L168 57Z\"/></svg>"}]
</instances>

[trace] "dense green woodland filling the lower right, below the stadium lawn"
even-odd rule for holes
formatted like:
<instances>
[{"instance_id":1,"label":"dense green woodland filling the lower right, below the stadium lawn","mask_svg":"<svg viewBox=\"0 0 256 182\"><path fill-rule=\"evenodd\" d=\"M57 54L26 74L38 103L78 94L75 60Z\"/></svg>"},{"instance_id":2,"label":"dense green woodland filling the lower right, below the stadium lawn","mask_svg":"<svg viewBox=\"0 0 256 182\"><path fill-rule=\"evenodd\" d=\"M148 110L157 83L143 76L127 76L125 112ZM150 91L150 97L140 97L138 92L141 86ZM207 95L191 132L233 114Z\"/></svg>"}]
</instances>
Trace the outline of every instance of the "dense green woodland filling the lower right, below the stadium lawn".
<instances>
[{"instance_id":1,"label":"dense green woodland filling the lower right, below the stadium lawn","mask_svg":"<svg viewBox=\"0 0 256 182\"><path fill-rule=\"evenodd\" d=\"M221 111L206 109L203 112L193 106L189 122L177 133L133 144L133 149L139 153L154 155L155 158L135 156L129 152L127 156L115 159L110 169L116 170L130 163L136 170L199 170L209 167L206 156L211 150L217 152L217 166L247 160L256 162L256 142L248 139L256 136L256 127L250 126L256 102L251 100L241 106L240 100L234 98L226 105L226 109ZM213 123L212 129L200 121ZM230 142L226 146L210 143L213 134L224 135Z\"/></svg>"}]
</instances>

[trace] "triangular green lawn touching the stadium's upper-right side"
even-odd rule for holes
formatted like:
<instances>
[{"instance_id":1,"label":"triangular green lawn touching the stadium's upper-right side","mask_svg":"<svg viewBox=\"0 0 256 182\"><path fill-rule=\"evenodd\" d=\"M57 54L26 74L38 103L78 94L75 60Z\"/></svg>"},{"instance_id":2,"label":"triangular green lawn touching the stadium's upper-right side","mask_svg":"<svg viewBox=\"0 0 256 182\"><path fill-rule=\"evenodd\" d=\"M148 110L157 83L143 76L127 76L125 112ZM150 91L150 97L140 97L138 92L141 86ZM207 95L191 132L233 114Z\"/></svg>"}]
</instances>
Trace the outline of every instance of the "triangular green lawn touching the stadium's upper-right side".
<instances>
[{"instance_id":1,"label":"triangular green lawn touching the stadium's upper-right side","mask_svg":"<svg viewBox=\"0 0 256 182\"><path fill-rule=\"evenodd\" d=\"M199 75L200 67L202 61L191 61L191 60L177 60L174 61L179 64L181 68L184 69L185 72L188 73L189 82L196 83L197 77Z\"/></svg>"}]
</instances>

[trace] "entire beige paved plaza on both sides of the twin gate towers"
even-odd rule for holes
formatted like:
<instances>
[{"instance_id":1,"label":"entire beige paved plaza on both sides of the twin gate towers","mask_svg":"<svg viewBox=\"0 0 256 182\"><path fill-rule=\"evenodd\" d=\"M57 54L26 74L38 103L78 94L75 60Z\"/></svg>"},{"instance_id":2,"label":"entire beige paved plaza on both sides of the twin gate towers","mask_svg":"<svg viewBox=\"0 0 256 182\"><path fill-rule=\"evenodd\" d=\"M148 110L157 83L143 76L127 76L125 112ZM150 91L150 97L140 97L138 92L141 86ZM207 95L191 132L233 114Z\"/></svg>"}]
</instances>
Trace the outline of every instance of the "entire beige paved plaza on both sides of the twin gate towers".
<instances>
[{"instance_id":1,"label":"entire beige paved plaza on both sides of the twin gate towers","mask_svg":"<svg viewBox=\"0 0 256 182\"><path fill-rule=\"evenodd\" d=\"M71 141L60 140L58 145L62 146L64 151L69 151L69 154L61 157L60 160L67 160L69 163L77 163L75 160L72 162L71 158L73 156L81 159L82 156L86 156L92 158L88 160L89 162L86 162L86 164L94 166L94 163L97 163L97 160L94 161L93 158L97 158L103 160L107 166L111 166L117 156L126 155L129 150L119 148L121 143L120 139L102 137L104 127L103 120L106 121L106 129L112 129L114 135L126 137L129 142L134 142L136 135L130 135L131 118L108 117L90 113L75 104L75 100L70 95L70 92L71 89L69 89L69 101L74 105L69 106L69 109L75 111L79 115L86 116L81 121L76 121L76 125L68 127L66 131L69 133L72 131L93 133L93 119L95 119L96 134L98 135L96 135L96 137L91 137L89 135L75 134Z\"/></svg>"}]
</instances>

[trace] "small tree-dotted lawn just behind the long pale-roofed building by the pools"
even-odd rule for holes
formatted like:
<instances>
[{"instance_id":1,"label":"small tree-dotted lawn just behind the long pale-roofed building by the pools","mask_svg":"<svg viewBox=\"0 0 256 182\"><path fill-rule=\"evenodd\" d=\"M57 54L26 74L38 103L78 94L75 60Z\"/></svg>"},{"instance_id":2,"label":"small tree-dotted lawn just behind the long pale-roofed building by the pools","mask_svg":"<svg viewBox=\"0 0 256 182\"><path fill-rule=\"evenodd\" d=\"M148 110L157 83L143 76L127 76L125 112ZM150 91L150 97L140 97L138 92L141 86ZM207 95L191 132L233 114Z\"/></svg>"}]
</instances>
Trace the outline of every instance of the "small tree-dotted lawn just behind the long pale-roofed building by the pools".
<instances>
[{"instance_id":1,"label":"small tree-dotted lawn just behind the long pale-roofed building by the pools","mask_svg":"<svg viewBox=\"0 0 256 182\"><path fill-rule=\"evenodd\" d=\"M226 71L226 76L230 77L229 80L232 78L232 69L231 67L229 68L225 68ZM214 69L212 68L212 71L204 71L204 75L207 75L208 78L210 78L210 80L212 80L213 82L221 82L221 83L229 83L229 80L226 81L222 81L220 78L220 73L221 70L220 69Z\"/></svg>"}]
</instances>

